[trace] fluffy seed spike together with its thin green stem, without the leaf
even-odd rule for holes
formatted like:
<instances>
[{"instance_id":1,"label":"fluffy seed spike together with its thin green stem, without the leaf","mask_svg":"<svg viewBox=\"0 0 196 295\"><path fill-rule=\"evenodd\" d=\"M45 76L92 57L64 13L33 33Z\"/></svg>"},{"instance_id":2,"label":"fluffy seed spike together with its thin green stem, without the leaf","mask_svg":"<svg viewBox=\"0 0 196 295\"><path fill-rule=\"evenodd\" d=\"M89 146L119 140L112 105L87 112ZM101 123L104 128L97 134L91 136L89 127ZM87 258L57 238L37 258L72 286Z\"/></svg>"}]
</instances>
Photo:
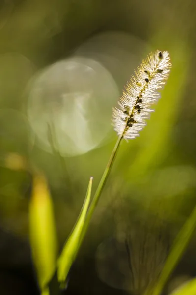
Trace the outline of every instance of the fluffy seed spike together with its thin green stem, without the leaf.
<instances>
[{"instance_id":1,"label":"fluffy seed spike together with its thin green stem, without the leaf","mask_svg":"<svg viewBox=\"0 0 196 295\"><path fill-rule=\"evenodd\" d=\"M146 125L145 120L150 117L150 112L153 111L151 105L155 104L160 98L157 90L163 88L170 67L171 63L167 51L157 50L154 54L151 53L147 59L142 61L137 72L135 72L135 76L131 77L126 86L126 91L123 91L118 102L119 109L113 109L113 126L119 137L88 208L74 253L75 256L87 232L122 139L134 139L139 136L139 131Z\"/></svg>"}]
</instances>

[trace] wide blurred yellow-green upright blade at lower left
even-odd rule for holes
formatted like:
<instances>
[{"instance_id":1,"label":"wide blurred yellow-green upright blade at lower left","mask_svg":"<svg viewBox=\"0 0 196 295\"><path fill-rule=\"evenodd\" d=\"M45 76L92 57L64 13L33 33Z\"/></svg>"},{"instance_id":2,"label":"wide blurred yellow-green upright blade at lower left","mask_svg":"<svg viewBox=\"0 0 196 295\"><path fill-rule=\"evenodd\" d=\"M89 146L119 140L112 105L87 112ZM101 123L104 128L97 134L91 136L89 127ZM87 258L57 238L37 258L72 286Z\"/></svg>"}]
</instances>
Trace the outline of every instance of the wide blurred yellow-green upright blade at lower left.
<instances>
[{"instance_id":1,"label":"wide blurred yellow-green upright blade at lower left","mask_svg":"<svg viewBox=\"0 0 196 295\"><path fill-rule=\"evenodd\" d=\"M43 175L33 177L29 205L29 234L39 286L43 294L47 294L45 287L56 270L57 237L53 203Z\"/></svg>"}]
</instances>

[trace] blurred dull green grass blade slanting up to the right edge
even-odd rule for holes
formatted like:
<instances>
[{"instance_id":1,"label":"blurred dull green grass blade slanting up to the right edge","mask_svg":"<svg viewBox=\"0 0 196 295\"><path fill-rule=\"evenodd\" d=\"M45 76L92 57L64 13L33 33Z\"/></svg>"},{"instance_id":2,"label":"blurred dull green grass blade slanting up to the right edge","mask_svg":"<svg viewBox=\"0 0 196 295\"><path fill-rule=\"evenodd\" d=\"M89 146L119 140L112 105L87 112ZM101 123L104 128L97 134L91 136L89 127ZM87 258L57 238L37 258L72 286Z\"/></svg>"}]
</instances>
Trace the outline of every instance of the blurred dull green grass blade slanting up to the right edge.
<instances>
[{"instance_id":1,"label":"blurred dull green grass blade slanting up to the right edge","mask_svg":"<svg viewBox=\"0 0 196 295\"><path fill-rule=\"evenodd\" d=\"M169 276L182 257L196 227L196 206L177 235L164 268L154 288L149 288L145 295L160 295ZM150 290L151 289L151 290Z\"/></svg>"}]
</instances>

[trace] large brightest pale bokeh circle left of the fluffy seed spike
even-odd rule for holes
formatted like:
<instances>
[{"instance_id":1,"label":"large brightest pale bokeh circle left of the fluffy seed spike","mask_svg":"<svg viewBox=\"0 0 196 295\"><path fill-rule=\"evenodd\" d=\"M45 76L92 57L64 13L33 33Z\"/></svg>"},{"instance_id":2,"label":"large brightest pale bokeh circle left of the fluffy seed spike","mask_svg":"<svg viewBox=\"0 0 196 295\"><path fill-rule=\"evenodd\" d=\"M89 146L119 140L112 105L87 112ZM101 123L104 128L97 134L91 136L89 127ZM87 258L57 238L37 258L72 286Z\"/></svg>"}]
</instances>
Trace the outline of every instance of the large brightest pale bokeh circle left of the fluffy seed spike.
<instances>
[{"instance_id":1,"label":"large brightest pale bokeh circle left of the fluffy seed spike","mask_svg":"<svg viewBox=\"0 0 196 295\"><path fill-rule=\"evenodd\" d=\"M58 61L30 85L28 118L40 148L74 156L96 148L111 130L119 92L109 71L84 57Z\"/></svg>"}]
</instances>

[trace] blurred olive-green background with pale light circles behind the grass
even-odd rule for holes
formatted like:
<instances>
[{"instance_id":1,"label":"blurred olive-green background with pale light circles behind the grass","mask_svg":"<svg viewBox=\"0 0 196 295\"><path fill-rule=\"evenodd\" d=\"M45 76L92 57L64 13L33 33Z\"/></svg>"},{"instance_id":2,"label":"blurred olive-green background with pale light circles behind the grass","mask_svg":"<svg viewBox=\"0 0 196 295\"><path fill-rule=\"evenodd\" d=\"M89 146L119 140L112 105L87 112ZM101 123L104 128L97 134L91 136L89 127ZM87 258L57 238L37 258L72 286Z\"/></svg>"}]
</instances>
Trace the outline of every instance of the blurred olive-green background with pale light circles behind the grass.
<instances>
[{"instance_id":1,"label":"blurred olive-green background with pale light circles behind the grass","mask_svg":"<svg viewBox=\"0 0 196 295\"><path fill-rule=\"evenodd\" d=\"M0 294L39 294L17 157L48 179L60 251L117 140L112 107L158 49L173 64L162 98L123 141L63 294L140 295L156 279L196 203L195 31L194 0L0 1ZM194 234L163 294L195 275Z\"/></svg>"}]
</instances>

